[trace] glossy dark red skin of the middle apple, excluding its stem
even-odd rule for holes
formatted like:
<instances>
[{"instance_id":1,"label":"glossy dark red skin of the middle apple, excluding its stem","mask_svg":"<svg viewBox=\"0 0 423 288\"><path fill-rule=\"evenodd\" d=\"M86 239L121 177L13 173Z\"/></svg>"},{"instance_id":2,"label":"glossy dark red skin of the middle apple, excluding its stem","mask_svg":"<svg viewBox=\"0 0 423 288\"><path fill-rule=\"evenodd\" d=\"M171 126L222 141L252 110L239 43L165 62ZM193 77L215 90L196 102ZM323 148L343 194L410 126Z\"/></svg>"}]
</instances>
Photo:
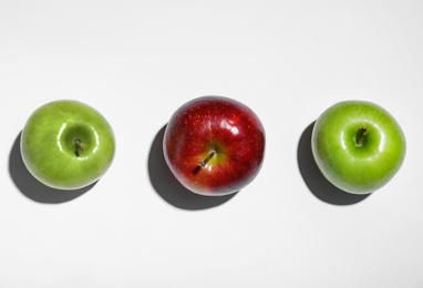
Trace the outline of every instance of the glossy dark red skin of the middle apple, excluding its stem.
<instances>
[{"instance_id":1,"label":"glossy dark red skin of the middle apple, excluding its stem","mask_svg":"<svg viewBox=\"0 0 423 288\"><path fill-rule=\"evenodd\" d=\"M187 189L206 196L227 195L248 185L260 171L265 130L245 104L204 96L173 114L163 150L172 173ZM216 154L198 169L212 152Z\"/></svg>"}]
</instances>

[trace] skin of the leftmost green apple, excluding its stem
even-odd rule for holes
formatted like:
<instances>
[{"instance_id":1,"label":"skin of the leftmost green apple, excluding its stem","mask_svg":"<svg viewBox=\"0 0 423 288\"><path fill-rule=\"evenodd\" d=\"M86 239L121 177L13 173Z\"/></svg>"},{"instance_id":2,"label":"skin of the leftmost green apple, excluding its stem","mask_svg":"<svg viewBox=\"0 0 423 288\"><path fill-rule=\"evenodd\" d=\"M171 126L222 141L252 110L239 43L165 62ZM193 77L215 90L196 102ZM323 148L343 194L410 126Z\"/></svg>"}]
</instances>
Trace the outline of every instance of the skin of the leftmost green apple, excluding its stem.
<instances>
[{"instance_id":1,"label":"skin of the leftmost green apple, excluding its stem","mask_svg":"<svg viewBox=\"0 0 423 288\"><path fill-rule=\"evenodd\" d=\"M27 168L38 181L56 189L78 189L96 182L112 164L114 151L114 134L107 121L93 107L73 100L39 107L21 135Z\"/></svg>"}]
</instances>

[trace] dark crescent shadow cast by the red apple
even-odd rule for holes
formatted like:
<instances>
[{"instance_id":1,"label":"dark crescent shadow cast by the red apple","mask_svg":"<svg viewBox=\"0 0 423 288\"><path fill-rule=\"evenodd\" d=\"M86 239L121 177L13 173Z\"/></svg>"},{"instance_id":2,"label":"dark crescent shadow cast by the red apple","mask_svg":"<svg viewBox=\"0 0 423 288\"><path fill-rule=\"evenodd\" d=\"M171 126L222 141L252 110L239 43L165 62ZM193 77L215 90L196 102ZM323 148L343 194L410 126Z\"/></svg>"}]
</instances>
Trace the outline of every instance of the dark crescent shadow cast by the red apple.
<instances>
[{"instance_id":1,"label":"dark crescent shadow cast by the red apple","mask_svg":"<svg viewBox=\"0 0 423 288\"><path fill-rule=\"evenodd\" d=\"M185 188L172 174L163 153L166 125L156 134L148 155L148 176L153 188L168 204L186 210L199 210L219 206L237 193L224 196L203 196Z\"/></svg>"}]
</instances>

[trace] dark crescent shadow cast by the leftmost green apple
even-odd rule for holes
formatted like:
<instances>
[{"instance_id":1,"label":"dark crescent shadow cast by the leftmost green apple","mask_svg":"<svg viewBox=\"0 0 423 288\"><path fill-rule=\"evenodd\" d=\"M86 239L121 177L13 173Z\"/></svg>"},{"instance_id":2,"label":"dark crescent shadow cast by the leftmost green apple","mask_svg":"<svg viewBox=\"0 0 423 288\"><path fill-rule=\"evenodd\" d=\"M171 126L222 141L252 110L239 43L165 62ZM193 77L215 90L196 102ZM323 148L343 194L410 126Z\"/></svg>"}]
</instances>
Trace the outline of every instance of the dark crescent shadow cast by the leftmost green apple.
<instances>
[{"instance_id":1,"label":"dark crescent shadow cast by the leftmost green apple","mask_svg":"<svg viewBox=\"0 0 423 288\"><path fill-rule=\"evenodd\" d=\"M17 188L28 198L43 204L60 204L80 197L82 194L90 191L93 183L86 187L74 191L61 191L45 186L35 179L27 169L21 155L21 133L13 143L9 155L9 173Z\"/></svg>"}]
</instances>

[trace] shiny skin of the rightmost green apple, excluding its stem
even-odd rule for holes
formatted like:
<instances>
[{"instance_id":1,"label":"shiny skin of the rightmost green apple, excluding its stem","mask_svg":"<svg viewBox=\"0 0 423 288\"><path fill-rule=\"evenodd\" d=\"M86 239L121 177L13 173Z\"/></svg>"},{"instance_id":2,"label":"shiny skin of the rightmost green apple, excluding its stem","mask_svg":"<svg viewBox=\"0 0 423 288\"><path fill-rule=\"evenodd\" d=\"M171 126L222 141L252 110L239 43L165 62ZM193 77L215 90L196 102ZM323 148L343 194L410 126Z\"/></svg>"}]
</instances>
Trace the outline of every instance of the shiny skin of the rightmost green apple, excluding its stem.
<instances>
[{"instance_id":1,"label":"shiny skin of the rightmost green apple, excluding its stem","mask_svg":"<svg viewBox=\"0 0 423 288\"><path fill-rule=\"evenodd\" d=\"M361 145L357 142L363 134ZM314 123L311 150L323 176L338 188L369 194L385 185L405 157L405 136L394 117L365 101L344 101Z\"/></svg>"}]
</instances>

